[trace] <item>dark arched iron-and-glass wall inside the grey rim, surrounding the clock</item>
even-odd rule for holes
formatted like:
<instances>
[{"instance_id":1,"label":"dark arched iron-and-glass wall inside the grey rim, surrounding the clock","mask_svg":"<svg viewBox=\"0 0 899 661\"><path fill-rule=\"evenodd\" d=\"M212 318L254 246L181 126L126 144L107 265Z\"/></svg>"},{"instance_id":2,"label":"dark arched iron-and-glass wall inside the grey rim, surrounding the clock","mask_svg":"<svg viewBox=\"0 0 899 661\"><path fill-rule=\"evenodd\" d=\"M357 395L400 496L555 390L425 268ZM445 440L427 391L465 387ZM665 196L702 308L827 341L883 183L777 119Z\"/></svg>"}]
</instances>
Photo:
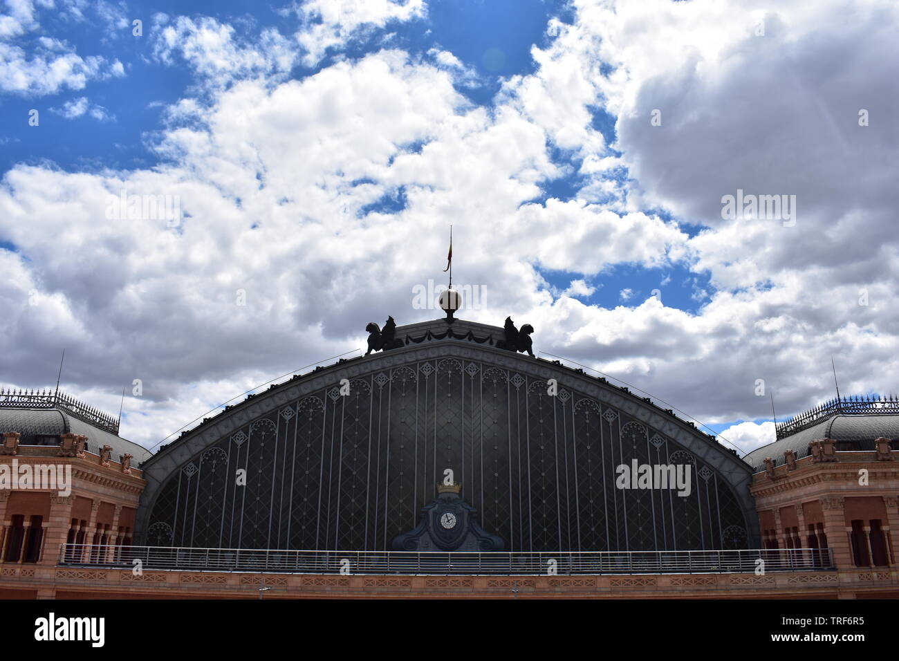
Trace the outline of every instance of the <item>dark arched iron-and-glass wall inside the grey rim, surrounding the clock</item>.
<instances>
[{"instance_id":1,"label":"dark arched iron-and-glass wall inside the grey rim, surrounding the clock","mask_svg":"<svg viewBox=\"0 0 899 661\"><path fill-rule=\"evenodd\" d=\"M576 388L559 397L547 378L454 357L396 362L349 385L318 380L173 470L148 504L147 543L382 551L414 528L447 469L512 551L750 543L719 467ZM689 466L690 493L617 488L634 461Z\"/></svg>"}]
</instances>

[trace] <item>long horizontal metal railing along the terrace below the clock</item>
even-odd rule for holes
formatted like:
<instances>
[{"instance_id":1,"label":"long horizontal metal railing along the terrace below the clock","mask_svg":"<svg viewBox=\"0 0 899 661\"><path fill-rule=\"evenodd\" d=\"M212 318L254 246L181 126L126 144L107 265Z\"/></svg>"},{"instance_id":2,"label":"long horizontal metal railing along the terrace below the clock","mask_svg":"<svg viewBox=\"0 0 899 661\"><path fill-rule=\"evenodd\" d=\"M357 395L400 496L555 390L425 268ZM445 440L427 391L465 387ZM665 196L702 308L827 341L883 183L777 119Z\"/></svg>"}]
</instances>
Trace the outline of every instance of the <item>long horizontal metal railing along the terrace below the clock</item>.
<instances>
[{"instance_id":1,"label":"long horizontal metal railing along the terrace below the clock","mask_svg":"<svg viewBox=\"0 0 899 661\"><path fill-rule=\"evenodd\" d=\"M419 553L88 544L63 544L59 564L142 570L378 575L708 574L833 568L831 549Z\"/></svg>"}]
</instances>

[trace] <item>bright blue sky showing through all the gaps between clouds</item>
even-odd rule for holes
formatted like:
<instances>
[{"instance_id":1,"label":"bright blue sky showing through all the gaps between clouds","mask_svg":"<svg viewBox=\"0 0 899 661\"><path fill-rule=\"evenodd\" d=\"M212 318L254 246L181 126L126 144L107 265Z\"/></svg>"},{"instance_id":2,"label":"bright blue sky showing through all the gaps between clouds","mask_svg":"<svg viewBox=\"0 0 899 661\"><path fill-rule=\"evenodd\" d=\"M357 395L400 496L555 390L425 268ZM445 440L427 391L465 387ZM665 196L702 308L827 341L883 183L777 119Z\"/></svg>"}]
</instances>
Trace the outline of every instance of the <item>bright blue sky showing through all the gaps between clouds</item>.
<instances>
[{"instance_id":1,"label":"bright blue sky showing through all the gaps between clouds","mask_svg":"<svg viewBox=\"0 0 899 661\"><path fill-rule=\"evenodd\" d=\"M129 21L139 18L145 23L143 36L132 34L133 26L123 22L108 26L101 40L97 39L99 18L85 9L85 20L48 13L41 27L48 33L70 43L82 57L102 56L118 59L124 65L127 76L96 81L91 85L90 103L100 105L111 116L97 121L89 114L75 119L62 117L53 109L76 102L85 96L84 90L62 91L40 99L6 98L0 106L0 122L4 127L2 140L4 151L0 166L6 171L17 164L40 165L48 162L67 171L100 172L104 168L128 170L160 165L162 159L147 148L156 133L164 126L161 116L165 108L191 94L194 76L189 69L166 66L152 57L151 24L158 13L185 16L210 16L219 22L241 24L248 38L258 35L263 27L275 27L284 34L298 28L300 21L295 14L284 15L273 4L222 2L214 6L202 2L159 2L135 4L127 14ZM122 14L123 16L125 14ZM393 22L384 29L371 31L352 40L346 48L332 51L314 66L297 63L289 77L302 79L329 67L338 58L360 58L373 50L389 45L423 56L431 49L451 52L466 67L476 72L476 85L458 83L460 94L472 103L490 109L494 96L500 91L504 78L533 74L536 64L531 57L534 45L546 47L551 38L547 35L547 22L556 18L571 22L572 8L565 2L549 0L438 0L428 4L426 16L409 21ZM307 21L316 22L316 17ZM30 34L23 43L33 40ZM41 112L40 130L29 130L28 112L32 107ZM592 126L600 130L608 141L615 138L615 117L601 105L591 109ZM26 121L23 121L25 118ZM571 200L577 196L584 183L584 176L577 170L582 159L574 150L548 146L556 164L567 168L563 174L544 183L542 192L533 201L546 201L553 197ZM614 149L611 153L615 153ZM611 179L623 180L627 168L610 173ZM396 212L405 207L402 189L389 192L378 203L363 208ZM657 210L665 219L671 219L664 210ZM688 231L696 231L692 228ZM6 242L5 247L13 244ZM538 267L547 281L547 290L565 290L570 281L583 278L583 273L555 271ZM665 305L695 313L710 290L708 275L691 273L683 264L668 268L645 269L639 264L619 264L602 272L591 281L598 285L594 294L583 301L605 307L628 305L663 292ZM622 296L622 291L630 294Z\"/></svg>"}]
</instances>

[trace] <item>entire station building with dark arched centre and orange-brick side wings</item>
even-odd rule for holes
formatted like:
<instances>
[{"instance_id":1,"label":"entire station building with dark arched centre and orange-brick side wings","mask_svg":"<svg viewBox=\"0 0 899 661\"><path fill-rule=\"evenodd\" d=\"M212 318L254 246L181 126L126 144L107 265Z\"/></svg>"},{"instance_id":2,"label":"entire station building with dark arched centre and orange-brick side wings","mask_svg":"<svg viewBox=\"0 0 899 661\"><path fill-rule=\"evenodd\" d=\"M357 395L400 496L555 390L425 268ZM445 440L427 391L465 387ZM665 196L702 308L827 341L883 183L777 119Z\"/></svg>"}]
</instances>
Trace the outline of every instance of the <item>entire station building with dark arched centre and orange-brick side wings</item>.
<instances>
[{"instance_id":1,"label":"entire station building with dark arched centre and orange-brick side wings","mask_svg":"<svg viewBox=\"0 0 899 661\"><path fill-rule=\"evenodd\" d=\"M741 458L530 326L391 322L154 454L0 393L0 596L899 597L896 402Z\"/></svg>"}]
</instances>

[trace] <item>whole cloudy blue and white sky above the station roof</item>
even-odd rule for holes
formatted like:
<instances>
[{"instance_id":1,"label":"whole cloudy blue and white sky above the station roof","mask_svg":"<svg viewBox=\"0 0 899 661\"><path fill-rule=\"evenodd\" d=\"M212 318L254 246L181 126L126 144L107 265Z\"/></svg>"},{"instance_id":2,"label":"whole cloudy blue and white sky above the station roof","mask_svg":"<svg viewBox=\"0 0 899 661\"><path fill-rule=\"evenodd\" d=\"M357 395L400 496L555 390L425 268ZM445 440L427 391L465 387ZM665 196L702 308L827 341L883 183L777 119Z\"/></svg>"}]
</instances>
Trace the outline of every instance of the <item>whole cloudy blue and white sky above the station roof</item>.
<instances>
[{"instance_id":1,"label":"whole cloudy blue and white sky above the station roof","mask_svg":"<svg viewBox=\"0 0 899 661\"><path fill-rule=\"evenodd\" d=\"M457 317L751 451L831 360L897 390L896 43L893 0L0 0L0 384L65 350L156 446L441 317L452 225Z\"/></svg>"}]
</instances>

